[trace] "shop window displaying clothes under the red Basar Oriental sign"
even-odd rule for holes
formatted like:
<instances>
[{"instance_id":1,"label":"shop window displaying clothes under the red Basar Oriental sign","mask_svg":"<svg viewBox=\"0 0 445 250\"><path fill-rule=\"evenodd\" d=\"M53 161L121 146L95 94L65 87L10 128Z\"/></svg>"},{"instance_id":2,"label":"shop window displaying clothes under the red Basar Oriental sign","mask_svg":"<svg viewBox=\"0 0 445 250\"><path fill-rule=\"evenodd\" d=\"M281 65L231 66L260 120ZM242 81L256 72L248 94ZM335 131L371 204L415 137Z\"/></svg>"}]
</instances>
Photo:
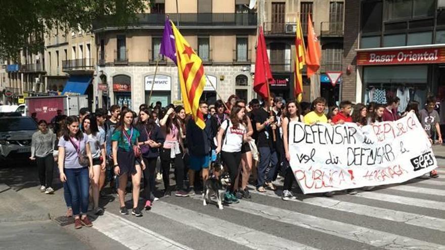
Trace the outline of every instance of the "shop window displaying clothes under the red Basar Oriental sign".
<instances>
[{"instance_id":1,"label":"shop window displaying clothes under the red Basar Oriental sign","mask_svg":"<svg viewBox=\"0 0 445 250\"><path fill-rule=\"evenodd\" d=\"M386 104L387 97L397 96L402 113L410 101L425 103L427 79L427 65L364 67L364 102Z\"/></svg>"}]
</instances>

